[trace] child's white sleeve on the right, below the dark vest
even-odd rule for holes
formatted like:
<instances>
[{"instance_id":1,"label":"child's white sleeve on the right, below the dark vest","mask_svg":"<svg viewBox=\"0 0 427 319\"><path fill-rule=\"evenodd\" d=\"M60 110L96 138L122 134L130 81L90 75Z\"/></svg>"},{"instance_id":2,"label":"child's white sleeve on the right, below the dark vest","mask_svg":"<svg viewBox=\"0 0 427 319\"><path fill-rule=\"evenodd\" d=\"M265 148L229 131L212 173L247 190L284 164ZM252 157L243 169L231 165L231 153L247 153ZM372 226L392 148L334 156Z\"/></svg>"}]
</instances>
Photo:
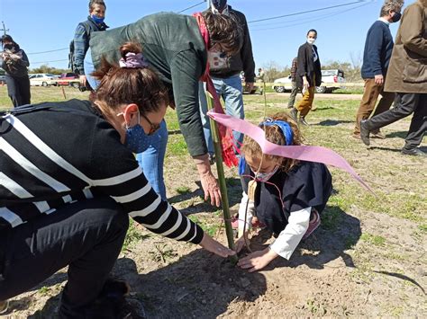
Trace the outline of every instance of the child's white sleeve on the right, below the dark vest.
<instances>
[{"instance_id":1,"label":"child's white sleeve on the right, below the dark vest","mask_svg":"<svg viewBox=\"0 0 427 319\"><path fill-rule=\"evenodd\" d=\"M278 235L276 241L270 244L271 250L289 260L308 229L311 212L311 207L293 211L285 229Z\"/></svg>"}]
</instances>

